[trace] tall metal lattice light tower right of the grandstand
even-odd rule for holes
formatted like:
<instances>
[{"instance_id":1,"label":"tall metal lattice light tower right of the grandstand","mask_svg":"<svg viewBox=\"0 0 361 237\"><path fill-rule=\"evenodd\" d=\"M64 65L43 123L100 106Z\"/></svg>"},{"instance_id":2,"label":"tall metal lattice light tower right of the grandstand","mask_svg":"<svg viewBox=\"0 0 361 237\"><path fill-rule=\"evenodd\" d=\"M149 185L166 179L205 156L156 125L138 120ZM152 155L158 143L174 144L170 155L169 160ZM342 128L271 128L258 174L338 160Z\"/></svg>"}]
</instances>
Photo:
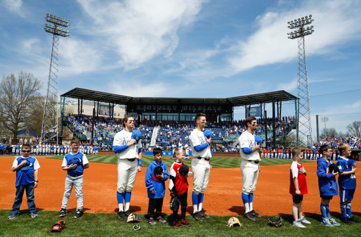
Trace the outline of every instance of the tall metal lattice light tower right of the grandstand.
<instances>
[{"instance_id":1,"label":"tall metal lattice light tower right of the grandstand","mask_svg":"<svg viewBox=\"0 0 361 237\"><path fill-rule=\"evenodd\" d=\"M307 80L307 65L305 53L305 36L314 32L313 26L310 25L314 20L312 15L291 20L288 22L288 28L293 30L288 34L288 39L298 39L298 81L297 81L297 95L298 95L298 129L297 143L299 136L301 141L307 141L306 146L312 146L312 127L311 127L311 110L310 110L310 94L308 91Z\"/></svg>"}]
</instances>

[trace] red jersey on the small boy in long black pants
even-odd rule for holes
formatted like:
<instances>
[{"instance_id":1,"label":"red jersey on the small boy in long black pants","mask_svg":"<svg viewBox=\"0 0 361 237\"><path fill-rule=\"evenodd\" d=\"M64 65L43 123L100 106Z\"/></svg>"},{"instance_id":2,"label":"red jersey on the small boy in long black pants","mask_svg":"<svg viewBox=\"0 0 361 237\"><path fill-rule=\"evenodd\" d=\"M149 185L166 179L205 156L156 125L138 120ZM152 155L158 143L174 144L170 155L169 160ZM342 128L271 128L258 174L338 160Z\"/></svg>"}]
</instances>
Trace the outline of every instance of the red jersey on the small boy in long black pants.
<instances>
[{"instance_id":1,"label":"red jersey on the small boy in long black pants","mask_svg":"<svg viewBox=\"0 0 361 237\"><path fill-rule=\"evenodd\" d=\"M170 179L169 179L169 190L171 193L176 193L177 195L181 195L188 191L188 181L187 177L179 174L178 169L181 168L182 165L185 165L183 162L174 162L171 166Z\"/></svg>"}]
</instances>

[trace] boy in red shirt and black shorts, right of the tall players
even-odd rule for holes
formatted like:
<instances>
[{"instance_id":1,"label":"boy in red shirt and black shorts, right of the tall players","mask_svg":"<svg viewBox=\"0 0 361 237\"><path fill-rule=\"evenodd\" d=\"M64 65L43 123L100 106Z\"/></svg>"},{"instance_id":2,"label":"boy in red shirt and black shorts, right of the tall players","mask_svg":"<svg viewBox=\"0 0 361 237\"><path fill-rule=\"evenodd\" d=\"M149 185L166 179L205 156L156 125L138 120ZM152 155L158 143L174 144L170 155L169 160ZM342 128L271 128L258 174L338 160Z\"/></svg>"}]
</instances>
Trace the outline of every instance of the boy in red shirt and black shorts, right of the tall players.
<instances>
[{"instance_id":1,"label":"boy in red shirt and black shorts, right of the tall players","mask_svg":"<svg viewBox=\"0 0 361 237\"><path fill-rule=\"evenodd\" d=\"M305 228L303 224L311 224L305 217L302 217L302 200L303 195L307 194L307 172L300 161L303 158L303 153L300 148L293 148L292 150L293 162L290 166L290 194L293 196L293 226Z\"/></svg>"}]
</instances>

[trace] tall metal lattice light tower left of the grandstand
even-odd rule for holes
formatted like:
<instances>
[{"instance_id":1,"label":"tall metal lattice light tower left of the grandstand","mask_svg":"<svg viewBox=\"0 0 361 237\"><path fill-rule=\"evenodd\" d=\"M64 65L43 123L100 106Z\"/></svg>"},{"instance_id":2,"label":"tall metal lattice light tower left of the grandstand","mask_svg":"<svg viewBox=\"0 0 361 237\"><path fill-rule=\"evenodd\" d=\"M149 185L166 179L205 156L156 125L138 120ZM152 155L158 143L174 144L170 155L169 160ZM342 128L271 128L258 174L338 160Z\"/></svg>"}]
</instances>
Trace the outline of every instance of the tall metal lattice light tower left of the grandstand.
<instances>
[{"instance_id":1,"label":"tall metal lattice light tower left of the grandstand","mask_svg":"<svg viewBox=\"0 0 361 237\"><path fill-rule=\"evenodd\" d=\"M58 143L59 37L69 36L69 31L64 30L62 27L70 26L70 20L56 15L49 15L49 13L47 13L45 20L50 24L45 24L44 30L53 34L53 44L51 47L47 97L45 98L44 115L42 117L42 142L55 141L54 137L56 137L56 143Z\"/></svg>"}]
</instances>

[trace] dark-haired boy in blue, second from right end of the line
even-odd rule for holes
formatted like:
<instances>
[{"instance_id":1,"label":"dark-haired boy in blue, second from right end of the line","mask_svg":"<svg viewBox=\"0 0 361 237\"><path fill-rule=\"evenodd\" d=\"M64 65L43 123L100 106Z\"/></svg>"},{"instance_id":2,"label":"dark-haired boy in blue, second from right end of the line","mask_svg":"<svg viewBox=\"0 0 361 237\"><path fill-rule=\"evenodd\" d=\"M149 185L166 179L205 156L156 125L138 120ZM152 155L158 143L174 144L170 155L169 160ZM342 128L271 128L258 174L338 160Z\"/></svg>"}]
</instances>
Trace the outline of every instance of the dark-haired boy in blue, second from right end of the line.
<instances>
[{"instance_id":1,"label":"dark-haired boy in blue, second from right end of the line","mask_svg":"<svg viewBox=\"0 0 361 237\"><path fill-rule=\"evenodd\" d=\"M332 149L323 145L319 148L319 154L322 157L317 158L317 176L319 177L319 195L321 196L321 214L322 224L325 226L339 226L340 223L336 222L330 215L329 203L331 199L338 195L338 186L336 181L336 175L338 172L334 170L329 172L329 165L331 162Z\"/></svg>"}]
</instances>

